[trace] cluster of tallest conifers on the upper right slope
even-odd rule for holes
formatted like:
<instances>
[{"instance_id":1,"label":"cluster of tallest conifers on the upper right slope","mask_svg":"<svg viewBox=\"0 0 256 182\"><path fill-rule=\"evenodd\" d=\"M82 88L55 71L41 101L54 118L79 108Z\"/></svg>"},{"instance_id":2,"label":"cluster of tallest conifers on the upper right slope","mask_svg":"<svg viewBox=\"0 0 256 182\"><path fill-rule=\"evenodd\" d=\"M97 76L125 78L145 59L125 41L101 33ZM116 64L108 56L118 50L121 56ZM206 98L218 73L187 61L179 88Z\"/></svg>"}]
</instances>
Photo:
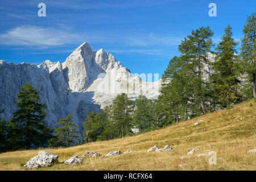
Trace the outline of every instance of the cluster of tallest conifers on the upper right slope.
<instances>
[{"instance_id":1,"label":"cluster of tallest conifers on the upper right slope","mask_svg":"<svg viewBox=\"0 0 256 182\"><path fill-rule=\"evenodd\" d=\"M213 32L209 27L200 27L184 38L179 45L181 56L171 59L163 74L155 106L159 123L172 118L179 122L256 97L255 20L255 13L247 18L240 55L229 25L216 52L212 51ZM210 57L208 52L215 56Z\"/></svg>"}]
</instances>

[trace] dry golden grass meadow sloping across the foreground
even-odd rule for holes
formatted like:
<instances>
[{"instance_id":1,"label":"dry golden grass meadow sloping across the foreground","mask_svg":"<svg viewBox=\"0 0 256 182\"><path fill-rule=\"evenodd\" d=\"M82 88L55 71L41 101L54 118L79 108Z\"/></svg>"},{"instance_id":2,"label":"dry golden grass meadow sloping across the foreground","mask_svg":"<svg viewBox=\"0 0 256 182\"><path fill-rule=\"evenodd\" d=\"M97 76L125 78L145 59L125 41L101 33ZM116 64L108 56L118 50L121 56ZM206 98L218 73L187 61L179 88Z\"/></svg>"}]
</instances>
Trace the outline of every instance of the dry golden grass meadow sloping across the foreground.
<instances>
[{"instance_id":1,"label":"dry golden grass meadow sloping across the foreground","mask_svg":"<svg viewBox=\"0 0 256 182\"><path fill-rule=\"evenodd\" d=\"M194 126L194 123L201 119L204 122ZM81 157L88 151L97 151L102 155L114 150L133 152L110 158L87 158L77 166L58 163L51 167L30 170L256 170L256 154L247 153L256 148L255 131L256 102L243 102L230 110L218 110L135 137L93 142L70 148L46 148L43 149L45 152L59 155L59 162L74 155ZM155 144L160 148L168 144L174 151L147 152L148 148ZM190 155L191 158L180 159L181 156L187 156L187 152L193 147L197 147L199 151ZM207 154L205 150L217 152L216 165L208 163L209 156L197 157L198 154ZM28 170L20 164L38 155L39 151L0 154L0 170ZM188 166L179 167L180 164Z\"/></svg>"}]
</instances>

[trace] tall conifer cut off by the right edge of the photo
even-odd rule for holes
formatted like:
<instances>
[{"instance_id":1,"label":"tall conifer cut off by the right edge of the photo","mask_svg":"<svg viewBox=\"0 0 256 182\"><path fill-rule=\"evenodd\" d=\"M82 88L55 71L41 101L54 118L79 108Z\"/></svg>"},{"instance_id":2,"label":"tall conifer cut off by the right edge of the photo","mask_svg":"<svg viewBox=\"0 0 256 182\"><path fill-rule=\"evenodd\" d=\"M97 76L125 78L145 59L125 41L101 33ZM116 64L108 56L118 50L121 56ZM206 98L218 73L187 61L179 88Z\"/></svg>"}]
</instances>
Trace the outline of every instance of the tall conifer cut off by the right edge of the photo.
<instances>
[{"instance_id":1,"label":"tall conifer cut off by the right edge of the photo","mask_svg":"<svg viewBox=\"0 0 256 182\"><path fill-rule=\"evenodd\" d=\"M244 37L241 45L241 72L247 75L247 81L251 82L253 97L256 97L256 14L247 16L246 25L243 28Z\"/></svg>"}]
</instances>

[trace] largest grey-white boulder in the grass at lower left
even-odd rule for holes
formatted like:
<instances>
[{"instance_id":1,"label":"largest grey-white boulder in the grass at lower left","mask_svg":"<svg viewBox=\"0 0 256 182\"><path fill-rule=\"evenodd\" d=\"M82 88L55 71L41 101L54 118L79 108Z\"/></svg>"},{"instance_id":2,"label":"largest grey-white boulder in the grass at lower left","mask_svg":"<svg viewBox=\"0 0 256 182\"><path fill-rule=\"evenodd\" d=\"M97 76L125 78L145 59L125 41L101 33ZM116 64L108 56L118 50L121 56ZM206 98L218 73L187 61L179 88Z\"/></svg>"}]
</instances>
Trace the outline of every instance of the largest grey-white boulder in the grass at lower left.
<instances>
[{"instance_id":1,"label":"largest grey-white boulder in the grass at lower left","mask_svg":"<svg viewBox=\"0 0 256 182\"><path fill-rule=\"evenodd\" d=\"M28 160L28 162L24 165L27 168L38 168L44 166L50 166L59 158L58 155L54 155L52 153L39 154L34 158Z\"/></svg>"}]
</instances>

